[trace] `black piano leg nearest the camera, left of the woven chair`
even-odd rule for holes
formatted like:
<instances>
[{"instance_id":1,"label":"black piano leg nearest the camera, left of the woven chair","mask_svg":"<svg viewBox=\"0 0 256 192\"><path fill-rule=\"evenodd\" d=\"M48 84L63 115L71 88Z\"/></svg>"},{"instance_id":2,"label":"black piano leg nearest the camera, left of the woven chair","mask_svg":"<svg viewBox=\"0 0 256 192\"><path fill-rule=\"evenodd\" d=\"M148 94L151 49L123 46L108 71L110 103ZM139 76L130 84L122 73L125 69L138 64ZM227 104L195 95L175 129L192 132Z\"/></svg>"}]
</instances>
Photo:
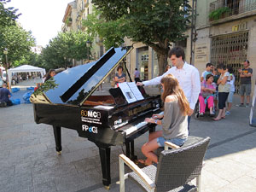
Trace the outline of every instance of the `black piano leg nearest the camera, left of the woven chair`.
<instances>
[{"instance_id":1,"label":"black piano leg nearest the camera, left of the woven chair","mask_svg":"<svg viewBox=\"0 0 256 192\"><path fill-rule=\"evenodd\" d=\"M99 146L98 146L99 147ZM99 147L102 163L102 183L106 189L109 189L111 184L110 177L110 147Z\"/></svg>"}]
</instances>

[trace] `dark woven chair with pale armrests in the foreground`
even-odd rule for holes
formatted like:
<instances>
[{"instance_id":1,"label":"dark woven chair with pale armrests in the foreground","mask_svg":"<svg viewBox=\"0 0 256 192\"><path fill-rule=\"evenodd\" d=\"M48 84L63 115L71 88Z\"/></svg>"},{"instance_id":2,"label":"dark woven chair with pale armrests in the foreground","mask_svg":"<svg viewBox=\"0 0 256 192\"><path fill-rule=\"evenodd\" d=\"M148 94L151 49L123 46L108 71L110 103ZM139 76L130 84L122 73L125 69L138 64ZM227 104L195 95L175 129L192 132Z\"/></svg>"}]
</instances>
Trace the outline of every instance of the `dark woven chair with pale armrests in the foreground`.
<instances>
[{"instance_id":1,"label":"dark woven chair with pale armrests in the foreground","mask_svg":"<svg viewBox=\"0 0 256 192\"><path fill-rule=\"evenodd\" d=\"M145 191L201 191L201 168L210 137L197 137L196 143L178 147L165 143L165 150L160 153L157 166L151 165L140 169L133 161L119 154L119 189L125 192L125 179L131 178ZM168 149L169 147L173 149ZM133 172L125 174L125 165ZM196 186L191 184L196 178Z\"/></svg>"}]
</instances>

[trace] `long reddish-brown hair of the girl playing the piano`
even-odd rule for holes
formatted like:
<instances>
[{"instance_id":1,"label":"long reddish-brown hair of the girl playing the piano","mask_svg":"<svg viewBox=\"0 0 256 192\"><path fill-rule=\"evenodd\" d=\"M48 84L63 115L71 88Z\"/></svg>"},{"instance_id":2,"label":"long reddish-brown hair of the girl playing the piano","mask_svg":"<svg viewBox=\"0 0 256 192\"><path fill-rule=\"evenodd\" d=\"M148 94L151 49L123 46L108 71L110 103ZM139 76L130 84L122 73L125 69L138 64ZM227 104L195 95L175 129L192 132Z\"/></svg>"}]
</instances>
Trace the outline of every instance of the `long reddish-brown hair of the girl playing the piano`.
<instances>
[{"instance_id":1,"label":"long reddish-brown hair of the girl playing the piano","mask_svg":"<svg viewBox=\"0 0 256 192\"><path fill-rule=\"evenodd\" d=\"M161 79L161 84L164 84L164 92L162 93L162 100L165 102L166 96L174 95L177 97L179 108L181 109L183 115L189 114L189 102L184 95L183 90L179 86L177 79L172 74L167 74Z\"/></svg>"}]
</instances>

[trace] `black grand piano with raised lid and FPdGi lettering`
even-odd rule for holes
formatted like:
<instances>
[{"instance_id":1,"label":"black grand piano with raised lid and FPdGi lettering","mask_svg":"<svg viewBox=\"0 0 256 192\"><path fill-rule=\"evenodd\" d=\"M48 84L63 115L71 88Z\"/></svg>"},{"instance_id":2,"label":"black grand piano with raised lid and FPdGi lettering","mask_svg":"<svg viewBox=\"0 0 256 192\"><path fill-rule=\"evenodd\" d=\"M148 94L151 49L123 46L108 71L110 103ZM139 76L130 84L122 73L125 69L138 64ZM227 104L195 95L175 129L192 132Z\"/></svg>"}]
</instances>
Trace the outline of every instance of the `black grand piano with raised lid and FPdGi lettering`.
<instances>
[{"instance_id":1,"label":"black grand piano with raised lid and FPdGi lettering","mask_svg":"<svg viewBox=\"0 0 256 192\"><path fill-rule=\"evenodd\" d=\"M69 68L49 79L36 90L33 103L36 123L53 125L55 145L61 154L61 127L78 131L99 148L102 183L109 189L110 147L124 145L125 153L134 159L134 139L154 125L145 117L160 113L160 96L145 96L128 103L119 88L108 94L94 94L102 81L125 59L131 48L112 48L98 61Z\"/></svg>"}]
</instances>

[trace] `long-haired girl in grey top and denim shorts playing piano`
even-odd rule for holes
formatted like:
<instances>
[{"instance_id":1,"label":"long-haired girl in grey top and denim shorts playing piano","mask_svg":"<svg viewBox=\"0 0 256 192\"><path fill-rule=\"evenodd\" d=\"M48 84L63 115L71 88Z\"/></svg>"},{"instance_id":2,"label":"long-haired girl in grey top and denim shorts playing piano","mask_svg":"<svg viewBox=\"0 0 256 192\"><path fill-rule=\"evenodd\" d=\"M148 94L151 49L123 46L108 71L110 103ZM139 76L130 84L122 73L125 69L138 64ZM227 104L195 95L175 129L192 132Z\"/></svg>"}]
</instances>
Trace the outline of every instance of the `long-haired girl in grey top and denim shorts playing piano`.
<instances>
[{"instance_id":1,"label":"long-haired girl in grey top and denim shorts playing piano","mask_svg":"<svg viewBox=\"0 0 256 192\"><path fill-rule=\"evenodd\" d=\"M161 85L164 90L161 95L165 103L164 114L154 114L153 118L145 119L148 123L162 126L161 131L149 134L148 143L145 143L142 147L142 152L147 159L138 161L147 166L153 162L158 163L154 150L164 147L166 141L182 146L189 135L189 102L186 96L184 96L177 79L172 74L168 74L161 79Z\"/></svg>"}]
</instances>

